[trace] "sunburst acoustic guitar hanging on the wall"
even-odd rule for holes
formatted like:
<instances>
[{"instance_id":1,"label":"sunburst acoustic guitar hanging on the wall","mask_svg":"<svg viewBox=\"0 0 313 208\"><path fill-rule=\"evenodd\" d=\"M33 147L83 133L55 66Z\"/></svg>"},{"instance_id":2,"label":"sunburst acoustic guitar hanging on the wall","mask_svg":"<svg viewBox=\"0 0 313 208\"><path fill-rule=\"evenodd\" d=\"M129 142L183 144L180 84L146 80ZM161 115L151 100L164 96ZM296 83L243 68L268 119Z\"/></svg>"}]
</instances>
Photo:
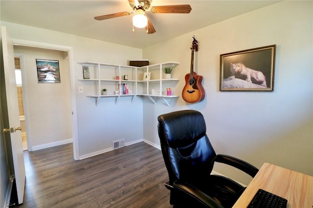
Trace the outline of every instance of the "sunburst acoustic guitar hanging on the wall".
<instances>
[{"instance_id":1,"label":"sunburst acoustic guitar hanging on the wall","mask_svg":"<svg viewBox=\"0 0 313 208\"><path fill-rule=\"evenodd\" d=\"M185 76L185 87L182 90L182 99L188 103L201 102L204 99L204 89L201 85L202 76L194 72L194 52L198 51L198 40L193 37L191 49L190 74Z\"/></svg>"}]
</instances>

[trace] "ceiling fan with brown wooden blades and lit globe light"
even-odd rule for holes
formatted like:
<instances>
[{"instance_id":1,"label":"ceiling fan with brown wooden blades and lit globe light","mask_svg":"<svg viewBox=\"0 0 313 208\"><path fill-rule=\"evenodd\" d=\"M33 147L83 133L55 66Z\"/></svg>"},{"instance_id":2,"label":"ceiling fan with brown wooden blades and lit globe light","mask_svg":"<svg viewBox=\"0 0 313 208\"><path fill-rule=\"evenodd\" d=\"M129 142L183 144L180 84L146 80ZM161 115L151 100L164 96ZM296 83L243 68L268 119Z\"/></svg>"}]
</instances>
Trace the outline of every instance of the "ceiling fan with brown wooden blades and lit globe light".
<instances>
[{"instance_id":1,"label":"ceiling fan with brown wooden blades and lit globe light","mask_svg":"<svg viewBox=\"0 0 313 208\"><path fill-rule=\"evenodd\" d=\"M131 14L135 14L133 17L133 25L138 28L146 28L148 34L153 34L156 32L152 22L146 16L145 12L150 11L154 14L157 13L180 13L186 14L190 13L191 6L189 4L181 4L181 5L167 5L167 6L151 6L152 0L128 0L129 4L133 8L133 12L119 12L113 13L110 15L103 15L94 17L96 20L105 20L111 18L118 18L123 16L128 16ZM133 27L134 31L134 27Z\"/></svg>"}]
</instances>

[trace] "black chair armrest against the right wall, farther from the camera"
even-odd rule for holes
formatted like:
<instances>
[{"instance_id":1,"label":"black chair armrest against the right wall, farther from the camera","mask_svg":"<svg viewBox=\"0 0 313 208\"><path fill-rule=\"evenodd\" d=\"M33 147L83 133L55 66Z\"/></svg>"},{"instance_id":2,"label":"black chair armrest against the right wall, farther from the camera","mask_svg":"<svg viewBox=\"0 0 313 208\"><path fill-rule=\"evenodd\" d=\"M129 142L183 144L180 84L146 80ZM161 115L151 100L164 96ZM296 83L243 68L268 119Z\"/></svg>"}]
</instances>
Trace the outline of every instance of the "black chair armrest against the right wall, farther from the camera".
<instances>
[{"instance_id":1,"label":"black chair armrest against the right wall, farther from the camera","mask_svg":"<svg viewBox=\"0 0 313 208\"><path fill-rule=\"evenodd\" d=\"M215 162L224 163L235 167L239 170L246 172L251 177L254 177L259 171L259 169L255 168L253 165L247 163L246 161L225 154L216 155Z\"/></svg>"}]
</instances>

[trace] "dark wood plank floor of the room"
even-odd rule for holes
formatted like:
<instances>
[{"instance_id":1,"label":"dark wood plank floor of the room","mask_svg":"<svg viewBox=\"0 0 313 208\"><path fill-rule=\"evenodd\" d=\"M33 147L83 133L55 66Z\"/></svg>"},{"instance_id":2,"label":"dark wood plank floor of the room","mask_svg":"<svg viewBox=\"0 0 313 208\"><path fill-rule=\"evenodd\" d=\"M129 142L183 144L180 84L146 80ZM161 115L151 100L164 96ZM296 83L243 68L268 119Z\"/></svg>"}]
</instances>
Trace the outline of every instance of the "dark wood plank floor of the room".
<instances>
[{"instance_id":1,"label":"dark wood plank floor of the room","mask_svg":"<svg viewBox=\"0 0 313 208\"><path fill-rule=\"evenodd\" d=\"M171 208L160 150L140 142L84 160L72 144L24 151L26 185L19 208Z\"/></svg>"}]
</instances>

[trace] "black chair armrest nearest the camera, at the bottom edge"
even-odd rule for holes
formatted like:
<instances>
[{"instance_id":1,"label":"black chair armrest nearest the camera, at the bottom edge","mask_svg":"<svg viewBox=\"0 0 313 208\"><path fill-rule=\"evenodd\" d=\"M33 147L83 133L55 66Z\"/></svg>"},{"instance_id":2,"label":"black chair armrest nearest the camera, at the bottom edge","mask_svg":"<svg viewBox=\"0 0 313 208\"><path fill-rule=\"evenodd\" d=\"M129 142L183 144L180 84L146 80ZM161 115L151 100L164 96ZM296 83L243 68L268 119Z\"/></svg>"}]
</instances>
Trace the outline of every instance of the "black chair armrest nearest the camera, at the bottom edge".
<instances>
[{"instance_id":1,"label":"black chair armrest nearest the camera, at the bottom edge","mask_svg":"<svg viewBox=\"0 0 313 208\"><path fill-rule=\"evenodd\" d=\"M211 197L203 193L201 190L181 181L174 182L174 189L184 192L191 196L206 208L223 208Z\"/></svg>"}]
</instances>

